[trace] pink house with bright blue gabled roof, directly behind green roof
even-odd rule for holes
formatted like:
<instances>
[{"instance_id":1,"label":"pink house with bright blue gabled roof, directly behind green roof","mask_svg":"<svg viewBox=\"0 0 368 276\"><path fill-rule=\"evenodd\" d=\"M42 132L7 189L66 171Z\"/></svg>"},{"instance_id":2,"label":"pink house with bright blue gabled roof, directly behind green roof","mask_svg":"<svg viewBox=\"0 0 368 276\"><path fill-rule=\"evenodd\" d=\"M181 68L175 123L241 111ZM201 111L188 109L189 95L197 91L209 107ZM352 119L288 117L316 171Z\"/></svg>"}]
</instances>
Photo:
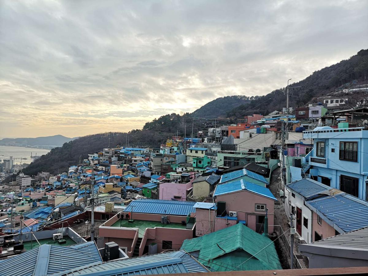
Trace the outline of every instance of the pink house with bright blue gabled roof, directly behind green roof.
<instances>
[{"instance_id":1,"label":"pink house with bright blue gabled roof, directly behind green roof","mask_svg":"<svg viewBox=\"0 0 368 276\"><path fill-rule=\"evenodd\" d=\"M262 233L266 209L268 209L268 233L273 233L273 213L277 199L268 188L238 180L217 185L213 196L216 197L216 210L211 203L206 203L207 206L203 203L194 206L197 236L203 236L238 222Z\"/></svg>"}]
</instances>

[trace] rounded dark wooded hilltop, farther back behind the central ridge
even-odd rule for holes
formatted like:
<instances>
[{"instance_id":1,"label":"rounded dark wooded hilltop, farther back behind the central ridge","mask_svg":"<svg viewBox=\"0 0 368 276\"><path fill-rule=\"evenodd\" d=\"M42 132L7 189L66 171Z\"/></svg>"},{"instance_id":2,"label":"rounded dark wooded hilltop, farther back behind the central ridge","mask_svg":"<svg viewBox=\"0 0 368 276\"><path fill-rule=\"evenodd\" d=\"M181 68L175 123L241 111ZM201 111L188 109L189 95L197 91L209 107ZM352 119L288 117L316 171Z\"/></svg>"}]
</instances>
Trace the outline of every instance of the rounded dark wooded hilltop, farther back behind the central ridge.
<instances>
[{"instance_id":1,"label":"rounded dark wooded hilltop, farther back behind the central ridge","mask_svg":"<svg viewBox=\"0 0 368 276\"><path fill-rule=\"evenodd\" d=\"M217 98L191 113L196 118L226 117L226 113L237 106L246 104L250 98L243 95L226 96Z\"/></svg>"}]
</instances>

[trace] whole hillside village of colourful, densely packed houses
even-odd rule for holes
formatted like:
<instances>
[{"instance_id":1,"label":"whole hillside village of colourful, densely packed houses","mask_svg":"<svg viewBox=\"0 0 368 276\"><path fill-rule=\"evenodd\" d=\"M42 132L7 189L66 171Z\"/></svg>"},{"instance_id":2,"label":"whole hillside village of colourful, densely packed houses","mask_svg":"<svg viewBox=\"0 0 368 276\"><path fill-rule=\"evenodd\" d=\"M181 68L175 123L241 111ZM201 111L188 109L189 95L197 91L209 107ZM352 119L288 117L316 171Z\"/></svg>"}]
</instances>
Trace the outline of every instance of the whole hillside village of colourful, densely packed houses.
<instances>
[{"instance_id":1,"label":"whole hillside village of colourful, densely packed houses","mask_svg":"<svg viewBox=\"0 0 368 276\"><path fill-rule=\"evenodd\" d=\"M0 269L33 257L34 275L367 265L349 251L367 250L368 108L347 102L127 141L56 175L4 160L16 180L1 187Z\"/></svg>"}]
</instances>

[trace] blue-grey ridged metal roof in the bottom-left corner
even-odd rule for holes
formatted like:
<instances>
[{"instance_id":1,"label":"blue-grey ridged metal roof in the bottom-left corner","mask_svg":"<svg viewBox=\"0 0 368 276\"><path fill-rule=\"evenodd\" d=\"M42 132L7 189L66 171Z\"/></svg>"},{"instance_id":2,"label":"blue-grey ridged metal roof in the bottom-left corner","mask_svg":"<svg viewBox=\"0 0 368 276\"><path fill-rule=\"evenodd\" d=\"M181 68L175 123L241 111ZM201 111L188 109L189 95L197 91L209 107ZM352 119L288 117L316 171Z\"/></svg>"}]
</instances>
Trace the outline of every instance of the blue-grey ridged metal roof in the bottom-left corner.
<instances>
[{"instance_id":1,"label":"blue-grey ridged metal roof in the bottom-left corner","mask_svg":"<svg viewBox=\"0 0 368 276\"><path fill-rule=\"evenodd\" d=\"M70 247L43 244L0 262L2 276L52 275L85 264L101 263L94 241Z\"/></svg>"}]
</instances>

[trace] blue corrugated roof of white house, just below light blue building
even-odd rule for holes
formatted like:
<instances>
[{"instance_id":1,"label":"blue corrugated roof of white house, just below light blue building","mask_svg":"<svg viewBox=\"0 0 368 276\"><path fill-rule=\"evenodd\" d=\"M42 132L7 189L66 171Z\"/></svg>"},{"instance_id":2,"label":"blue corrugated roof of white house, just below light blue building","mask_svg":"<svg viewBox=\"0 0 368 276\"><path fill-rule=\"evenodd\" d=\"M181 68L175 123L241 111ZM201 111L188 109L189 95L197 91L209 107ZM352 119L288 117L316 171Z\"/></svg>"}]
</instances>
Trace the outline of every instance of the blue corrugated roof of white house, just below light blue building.
<instances>
[{"instance_id":1,"label":"blue corrugated roof of white house, just below light blue building","mask_svg":"<svg viewBox=\"0 0 368 276\"><path fill-rule=\"evenodd\" d=\"M286 185L286 187L297 194L300 194L304 198L308 198L312 195L332 189L331 187L311 178L303 178L301 180L291 182L290 184Z\"/></svg>"}]
</instances>

